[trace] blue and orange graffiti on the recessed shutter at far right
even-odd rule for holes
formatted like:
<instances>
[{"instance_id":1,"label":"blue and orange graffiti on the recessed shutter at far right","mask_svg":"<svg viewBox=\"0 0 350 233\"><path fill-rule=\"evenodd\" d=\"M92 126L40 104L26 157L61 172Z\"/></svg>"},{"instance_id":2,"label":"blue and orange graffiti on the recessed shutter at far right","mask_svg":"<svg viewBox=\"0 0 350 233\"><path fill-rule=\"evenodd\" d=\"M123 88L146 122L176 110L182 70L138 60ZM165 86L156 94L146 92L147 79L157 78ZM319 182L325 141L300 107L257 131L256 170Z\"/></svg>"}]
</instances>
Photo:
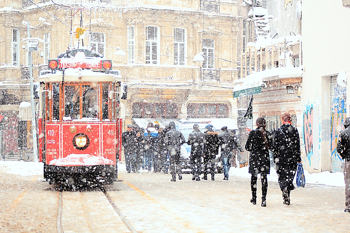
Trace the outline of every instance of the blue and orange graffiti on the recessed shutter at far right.
<instances>
[{"instance_id":1,"label":"blue and orange graffiti on the recessed shutter at far right","mask_svg":"<svg viewBox=\"0 0 350 233\"><path fill-rule=\"evenodd\" d=\"M338 135L344 129L344 121L346 118L346 87L337 85L334 88L334 98L332 98L331 111L331 161L332 171L342 169L342 158L337 153L336 147Z\"/></svg>"}]
</instances>

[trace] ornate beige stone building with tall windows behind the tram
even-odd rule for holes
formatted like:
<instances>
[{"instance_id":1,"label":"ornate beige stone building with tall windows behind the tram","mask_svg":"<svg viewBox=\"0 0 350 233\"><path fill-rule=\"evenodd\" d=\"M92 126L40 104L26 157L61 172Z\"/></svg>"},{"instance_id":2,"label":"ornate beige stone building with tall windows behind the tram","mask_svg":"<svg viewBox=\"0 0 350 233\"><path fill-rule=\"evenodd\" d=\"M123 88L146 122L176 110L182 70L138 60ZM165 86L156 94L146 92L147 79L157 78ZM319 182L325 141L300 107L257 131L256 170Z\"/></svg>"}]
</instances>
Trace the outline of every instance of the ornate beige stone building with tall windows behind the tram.
<instances>
[{"instance_id":1,"label":"ornate beige stone building with tall windows behind the tram","mask_svg":"<svg viewBox=\"0 0 350 233\"><path fill-rule=\"evenodd\" d=\"M28 21L30 36L41 38L38 52L32 53L34 79L48 59L69 47L97 50L113 61L129 86L125 124L132 118L237 119L232 88L242 46L241 0L98 0L107 4L82 10L69 5L74 1L53 2L0 3L0 93L14 95L9 102L0 100L0 114L18 117L19 103L30 102L22 40ZM78 40L79 27L86 31ZM198 53L204 62L194 62Z\"/></svg>"}]
</instances>

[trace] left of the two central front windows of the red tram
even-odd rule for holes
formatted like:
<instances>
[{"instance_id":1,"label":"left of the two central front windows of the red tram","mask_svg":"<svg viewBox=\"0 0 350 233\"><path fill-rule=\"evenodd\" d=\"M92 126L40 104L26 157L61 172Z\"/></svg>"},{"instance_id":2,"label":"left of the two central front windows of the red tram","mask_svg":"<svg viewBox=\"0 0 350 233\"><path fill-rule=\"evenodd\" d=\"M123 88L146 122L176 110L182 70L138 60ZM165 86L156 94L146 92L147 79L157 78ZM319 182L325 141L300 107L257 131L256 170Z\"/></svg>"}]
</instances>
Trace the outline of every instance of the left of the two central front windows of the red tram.
<instances>
[{"instance_id":1,"label":"left of the two central front windows of the red tram","mask_svg":"<svg viewBox=\"0 0 350 233\"><path fill-rule=\"evenodd\" d=\"M80 119L79 96L79 85L65 86L63 120Z\"/></svg>"}]
</instances>

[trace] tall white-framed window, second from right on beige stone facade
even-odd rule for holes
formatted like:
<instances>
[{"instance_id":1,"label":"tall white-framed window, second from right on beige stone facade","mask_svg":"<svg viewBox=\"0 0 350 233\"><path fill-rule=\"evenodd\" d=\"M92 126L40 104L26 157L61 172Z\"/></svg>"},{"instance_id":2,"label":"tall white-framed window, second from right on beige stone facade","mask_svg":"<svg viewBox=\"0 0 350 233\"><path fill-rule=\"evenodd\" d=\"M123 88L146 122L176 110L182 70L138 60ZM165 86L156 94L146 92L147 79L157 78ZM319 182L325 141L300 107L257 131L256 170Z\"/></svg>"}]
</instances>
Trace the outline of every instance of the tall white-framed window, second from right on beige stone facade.
<instances>
[{"instance_id":1,"label":"tall white-framed window, second from right on beige stone facade","mask_svg":"<svg viewBox=\"0 0 350 233\"><path fill-rule=\"evenodd\" d=\"M185 65L186 29L174 29L174 65Z\"/></svg>"}]
</instances>

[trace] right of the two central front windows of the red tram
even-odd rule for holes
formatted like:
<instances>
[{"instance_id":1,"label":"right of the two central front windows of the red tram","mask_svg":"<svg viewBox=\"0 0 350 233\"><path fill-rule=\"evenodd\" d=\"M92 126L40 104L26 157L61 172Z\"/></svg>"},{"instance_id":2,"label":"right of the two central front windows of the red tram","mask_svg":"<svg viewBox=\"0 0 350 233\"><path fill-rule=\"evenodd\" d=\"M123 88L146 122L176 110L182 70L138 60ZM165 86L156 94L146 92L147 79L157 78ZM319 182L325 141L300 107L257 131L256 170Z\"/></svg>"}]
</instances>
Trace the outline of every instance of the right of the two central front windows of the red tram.
<instances>
[{"instance_id":1,"label":"right of the two central front windows of the red tram","mask_svg":"<svg viewBox=\"0 0 350 233\"><path fill-rule=\"evenodd\" d=\"M97 87L83 85L83 118L97 118Z\"/></svg>"}]
</instances>

